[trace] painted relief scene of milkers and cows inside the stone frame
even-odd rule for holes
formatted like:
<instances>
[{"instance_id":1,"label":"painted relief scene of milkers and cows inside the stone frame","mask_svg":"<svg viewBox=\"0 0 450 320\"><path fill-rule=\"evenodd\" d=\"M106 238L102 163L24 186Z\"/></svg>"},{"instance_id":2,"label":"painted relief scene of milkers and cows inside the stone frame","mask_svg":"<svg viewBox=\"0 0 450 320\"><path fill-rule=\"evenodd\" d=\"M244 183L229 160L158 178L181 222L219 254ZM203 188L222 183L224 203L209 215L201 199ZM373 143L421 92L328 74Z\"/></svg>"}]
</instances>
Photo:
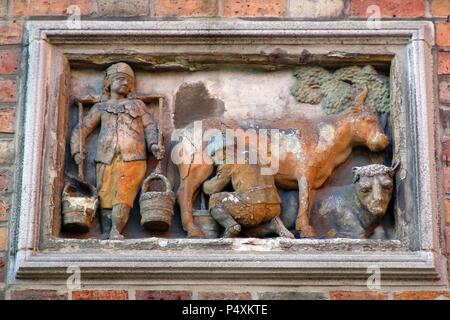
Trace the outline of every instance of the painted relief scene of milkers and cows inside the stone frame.
<instances>
[{"instance_id":1,"label":"painted relief scene of milkers and cows inside the stone frame","mask_svg":"<svg viewBox=\"0 0 450 320\"><path fill-rule=\"evenodd\" d=\"M71 78L63 238L395 237L386 68Z\"/></svg>"}]
</instances>

